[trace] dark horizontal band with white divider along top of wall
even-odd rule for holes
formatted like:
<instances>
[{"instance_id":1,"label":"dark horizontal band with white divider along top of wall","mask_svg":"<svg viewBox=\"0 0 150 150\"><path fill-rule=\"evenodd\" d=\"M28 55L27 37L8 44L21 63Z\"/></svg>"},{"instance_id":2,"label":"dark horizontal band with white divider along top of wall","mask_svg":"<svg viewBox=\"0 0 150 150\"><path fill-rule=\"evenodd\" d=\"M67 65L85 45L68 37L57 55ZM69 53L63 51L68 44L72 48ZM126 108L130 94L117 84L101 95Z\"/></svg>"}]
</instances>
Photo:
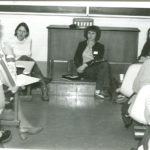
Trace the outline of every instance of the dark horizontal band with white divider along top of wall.
<instances>
[{"instance_id":1,"label":"dark horizontal band with white divider along top of wall","mask_svg":"<svg viewBox=\"0 0 150 150\"><path fill-rule=\"evenodd\" d=\"M45 14L45 15L79 15L110 17L150 17L150 8L125 7L89 7L89 6L33 6L0 5L0 13L11 14Z\"/></svg>"}]
</instances>

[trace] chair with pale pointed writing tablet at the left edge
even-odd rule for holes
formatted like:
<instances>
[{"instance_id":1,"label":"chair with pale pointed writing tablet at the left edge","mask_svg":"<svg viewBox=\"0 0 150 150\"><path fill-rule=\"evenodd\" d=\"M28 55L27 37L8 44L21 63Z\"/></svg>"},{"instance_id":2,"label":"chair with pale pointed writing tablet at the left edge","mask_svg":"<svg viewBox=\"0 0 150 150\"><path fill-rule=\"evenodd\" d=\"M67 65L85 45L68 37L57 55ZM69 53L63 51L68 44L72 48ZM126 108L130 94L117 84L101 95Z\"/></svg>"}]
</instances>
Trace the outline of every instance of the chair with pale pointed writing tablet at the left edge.
<instances>
[{"instance_id":1,"label":"chair with pale pointed writing tablet at the left edge","mask_svg":"<svg viewBox=\"0 0 150 150\"><path fill-rule=\"evenodd\" d=\"M19 125L19 118L18 118L18 106L19 106L19 96L18 96L18 89L21 86L26 86L29 84L33 84L39 82L40 79L26 76L26 75L18 75L16 78L12 76L8 65L4 58L0 57L0 79L3 84L7 85L9 89L15 94L14 97L14 119L13 120L1 120L2 125Z\"/></svg>"}]
</instances>

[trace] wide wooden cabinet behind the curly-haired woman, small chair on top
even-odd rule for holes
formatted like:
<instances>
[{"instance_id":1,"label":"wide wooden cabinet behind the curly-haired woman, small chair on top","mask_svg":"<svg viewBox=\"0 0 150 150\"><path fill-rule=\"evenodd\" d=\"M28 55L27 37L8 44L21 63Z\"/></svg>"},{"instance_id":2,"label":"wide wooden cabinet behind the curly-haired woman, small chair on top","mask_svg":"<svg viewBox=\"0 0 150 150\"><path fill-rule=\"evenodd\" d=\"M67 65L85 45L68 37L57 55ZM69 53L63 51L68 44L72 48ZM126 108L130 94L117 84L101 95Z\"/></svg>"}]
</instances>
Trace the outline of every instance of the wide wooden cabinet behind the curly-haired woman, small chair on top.
<instances>
[{"instance_id":1,"label":"wide wooden cabinet behind the curly-haired woman, small chair on top","mask_svg":"<svg viewBox=\"0 0 150 150\"><path fill-rule=\"evenodd\" d=\"M59 63L59 67L55 65L54 72L65 69L65 63L73 59L78 43L84 40L84 29L70 29L68 26L48 26L47 29L47 74L51 76L51 60ZM100 29L102 32L99 42L105 46L105 59L110 62L113 73L125 73L128 65L135 62L137 57L139 30L119 27Z\"/></svg>"}]
</instances>

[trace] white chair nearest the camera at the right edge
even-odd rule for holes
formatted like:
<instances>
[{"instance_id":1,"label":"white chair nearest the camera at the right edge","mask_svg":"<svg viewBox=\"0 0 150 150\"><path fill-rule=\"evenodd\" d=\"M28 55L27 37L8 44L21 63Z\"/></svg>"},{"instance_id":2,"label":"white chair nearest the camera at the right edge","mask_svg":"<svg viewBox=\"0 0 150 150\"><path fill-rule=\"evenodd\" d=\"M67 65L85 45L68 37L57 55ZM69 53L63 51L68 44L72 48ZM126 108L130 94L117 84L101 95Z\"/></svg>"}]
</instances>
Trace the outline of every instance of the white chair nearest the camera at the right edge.
<instances>
[{"instance_id":1,"label":"white chair nearest the camera at the right edge","mask_svg":"<svg viewBox=\"0 0 150 150\"><path fill-rule=\"evenodd\" d=\"M144 85L138 94L132 99L128 109L129 116L138 122L134 126L136 139L143 138L150 125L150 85Z\"/></svg>"}]
</instances>

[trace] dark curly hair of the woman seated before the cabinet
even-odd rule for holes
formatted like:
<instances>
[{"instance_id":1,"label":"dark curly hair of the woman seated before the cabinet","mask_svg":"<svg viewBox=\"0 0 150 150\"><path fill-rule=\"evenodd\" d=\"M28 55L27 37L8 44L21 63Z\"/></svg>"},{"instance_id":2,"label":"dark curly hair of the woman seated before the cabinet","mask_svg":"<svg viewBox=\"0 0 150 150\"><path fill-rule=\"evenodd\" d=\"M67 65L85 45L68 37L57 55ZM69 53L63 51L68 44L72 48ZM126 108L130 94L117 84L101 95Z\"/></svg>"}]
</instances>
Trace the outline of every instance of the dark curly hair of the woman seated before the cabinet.
<instances>
[{"instance_id":1,"label":"dark curly hair of the woman seated before the cabinet","mask_svg":"<svg viewBox=\"0 0 150 150\"><path fill-rule=\"evenodd\" d=\"M84 31L84 37L86 39L88 39L87 35L89 31L94 31L96 32L96 37L95 37L95 41L98 41L100 39L101 36L101 30L98 26L88 26L85 31Z\"/></svg>"}]
</instances>

